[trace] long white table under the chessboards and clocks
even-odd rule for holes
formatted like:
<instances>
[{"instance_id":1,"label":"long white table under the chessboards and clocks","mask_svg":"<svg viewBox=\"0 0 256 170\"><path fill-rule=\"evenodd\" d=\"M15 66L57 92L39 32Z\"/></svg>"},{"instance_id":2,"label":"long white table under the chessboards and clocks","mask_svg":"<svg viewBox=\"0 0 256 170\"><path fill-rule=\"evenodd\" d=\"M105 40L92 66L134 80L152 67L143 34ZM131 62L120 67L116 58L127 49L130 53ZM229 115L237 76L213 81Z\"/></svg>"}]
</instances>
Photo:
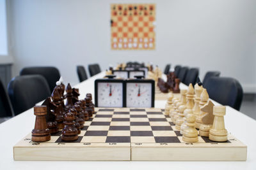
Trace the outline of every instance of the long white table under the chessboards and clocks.
<instances>
[{"instance_id":1,"label":"long white table under the chessboards and clocks","mask_svg":"<svg viewBox=\"0 0 256 170\"><path fill-rule=\"evenodd\" d=\"M104 73L97 74L76 85L81 98L90 92L94 96L94 80L102 78ZM186 85L180 85L180 89ZM156 108L164 108L165 101L156 101ZM35 122L33 108L0 124L0 169L256 169L256 121L243 113L227 106L225 125L228 132L248 146L247 160L241 162L79 162L79 161L14 161L13 145L24 138L32 129Z\"/></svg>"}]
</instances>

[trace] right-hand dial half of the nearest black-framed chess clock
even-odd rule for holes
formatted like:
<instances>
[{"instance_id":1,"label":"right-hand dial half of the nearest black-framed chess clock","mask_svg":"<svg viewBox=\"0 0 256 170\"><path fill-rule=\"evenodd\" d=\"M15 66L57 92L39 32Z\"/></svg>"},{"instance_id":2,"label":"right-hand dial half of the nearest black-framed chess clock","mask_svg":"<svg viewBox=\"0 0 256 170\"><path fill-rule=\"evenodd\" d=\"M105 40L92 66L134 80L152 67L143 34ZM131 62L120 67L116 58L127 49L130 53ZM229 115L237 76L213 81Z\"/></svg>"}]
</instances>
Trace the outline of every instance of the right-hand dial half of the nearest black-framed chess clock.
<instances>
[{"instance_id":1,"label":"right-hand dial half of the nearest black-framed chess clock","mask_svg":"<svg viewBox=\"0 0 256 170\"><path fill-rule=\"evenodd\" d=\"M155 101L155 81L127 80L125 96L127 108L152 108Z\"/></svg>"}]
</instances>

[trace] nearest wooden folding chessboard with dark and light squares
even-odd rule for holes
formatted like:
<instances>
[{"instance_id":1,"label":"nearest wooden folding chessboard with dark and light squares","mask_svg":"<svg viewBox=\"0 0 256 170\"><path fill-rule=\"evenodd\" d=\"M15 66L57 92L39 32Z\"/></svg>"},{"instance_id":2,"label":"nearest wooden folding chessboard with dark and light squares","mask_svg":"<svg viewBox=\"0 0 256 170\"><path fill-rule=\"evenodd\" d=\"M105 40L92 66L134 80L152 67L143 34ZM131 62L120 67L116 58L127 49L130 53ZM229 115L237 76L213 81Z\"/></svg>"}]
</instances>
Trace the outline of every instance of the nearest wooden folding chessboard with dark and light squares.
<instances>
[{"instance_id":1,"label":"nearest wooden folding chessboard with dark and light squares","mask_svg":"<svg viewBox=\"0 0 256 170\"><path fill-rule=\"evenodd\" d=\"M14 160L246 160L247 146L234 136L216 143L182 141L171 118L157 108L95 108L76 141L61 131L42 143L28 134L13 146Z\"/></svg>"}]
</instances>

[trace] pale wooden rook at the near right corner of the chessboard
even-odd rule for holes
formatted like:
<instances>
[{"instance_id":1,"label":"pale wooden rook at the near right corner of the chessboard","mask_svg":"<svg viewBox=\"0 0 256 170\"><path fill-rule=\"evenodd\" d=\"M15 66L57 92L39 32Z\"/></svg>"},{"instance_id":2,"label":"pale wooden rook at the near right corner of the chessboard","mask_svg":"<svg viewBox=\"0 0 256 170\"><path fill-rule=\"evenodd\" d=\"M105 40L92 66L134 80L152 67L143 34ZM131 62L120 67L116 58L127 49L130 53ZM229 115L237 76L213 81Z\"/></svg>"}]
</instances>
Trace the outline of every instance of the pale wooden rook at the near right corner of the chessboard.
<instances>
[{"instance_id":1,"label":"pale wooden rook at the near right corner of the chessboard","mask_svg":"<svg viewBox=\"0 0 256 170\"><path fill-rule=\"evenodd\" d=\"M209 132L209 139L211 141L227 141L228 132L225 129L224 115L226 114L225 106L213 106L214 120L212 129Z\"/></svg>"}]
</instances>

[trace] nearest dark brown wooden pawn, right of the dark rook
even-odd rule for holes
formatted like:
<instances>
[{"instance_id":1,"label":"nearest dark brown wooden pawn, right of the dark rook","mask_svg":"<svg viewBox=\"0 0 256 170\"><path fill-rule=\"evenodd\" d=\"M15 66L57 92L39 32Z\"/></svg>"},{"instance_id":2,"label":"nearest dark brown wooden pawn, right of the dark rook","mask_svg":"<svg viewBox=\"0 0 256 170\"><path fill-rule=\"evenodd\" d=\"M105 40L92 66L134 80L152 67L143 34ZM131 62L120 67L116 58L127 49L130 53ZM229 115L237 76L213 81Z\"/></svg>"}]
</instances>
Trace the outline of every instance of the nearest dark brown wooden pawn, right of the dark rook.
<instances>
[{"instance_id":1,"label":"nearest dark brown wooden pawn, right of the dark rook","mask_svg":"<svg viewBox=\"0 0 256 170\"><path fill-rule=\"evenodd\" d=\"M74 120L76 119L75 115L68 111L65 114L65 127L62 129L61 139L63 141L75 141L78 139L78 131L75 127Z\"/></svg>"}]
</instances>

